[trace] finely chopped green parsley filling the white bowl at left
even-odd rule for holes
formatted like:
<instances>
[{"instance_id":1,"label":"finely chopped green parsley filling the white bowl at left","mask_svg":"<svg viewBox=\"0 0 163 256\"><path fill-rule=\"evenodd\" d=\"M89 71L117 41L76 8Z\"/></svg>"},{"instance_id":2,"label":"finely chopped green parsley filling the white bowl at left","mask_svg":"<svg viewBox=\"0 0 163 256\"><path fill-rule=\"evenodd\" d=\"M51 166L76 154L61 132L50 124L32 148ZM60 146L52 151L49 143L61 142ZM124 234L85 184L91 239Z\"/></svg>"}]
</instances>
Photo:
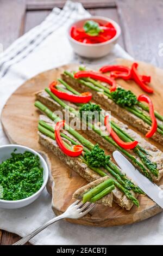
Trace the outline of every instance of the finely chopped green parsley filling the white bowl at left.
<instances>
[{"instance_id":1,"label":"finely chopped green parsley filling the white bowl at left","mask_svg":"<svg viewBox=\"0 0 163 256\"><path fill-rule=\"evenodd\" d=\"M26 151L11 153L11 158L0 164L0 197L3 200L21 200L36 193L43 183L40 159Z\"/></svg>"}]
</instances>

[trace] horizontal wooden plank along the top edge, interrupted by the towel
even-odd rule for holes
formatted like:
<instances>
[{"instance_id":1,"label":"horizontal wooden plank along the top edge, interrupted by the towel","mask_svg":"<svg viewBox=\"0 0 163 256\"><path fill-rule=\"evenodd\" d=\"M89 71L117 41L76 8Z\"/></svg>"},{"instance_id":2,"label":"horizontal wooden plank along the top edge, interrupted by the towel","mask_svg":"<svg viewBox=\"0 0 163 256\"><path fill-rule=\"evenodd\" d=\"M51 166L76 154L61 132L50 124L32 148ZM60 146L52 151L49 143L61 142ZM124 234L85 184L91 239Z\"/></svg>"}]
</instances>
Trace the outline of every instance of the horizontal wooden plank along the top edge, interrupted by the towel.
<instances>
[{"instance_id":1,"label":"horizontal wooden plank along the top edge, interrupted by the towel","mask_svg":"<svg viewBox=\"0 0 163 256\"><path fill-rule=\"evenodd\" d=\"M66 0L51 0L51 1L40 1L40 0L27 0L27 10L51 10L54 7L62 8ZM80 2L84 8L109 8L116 7L114 0L74 0L74 2Z\"/></svg>"}]
</instances>

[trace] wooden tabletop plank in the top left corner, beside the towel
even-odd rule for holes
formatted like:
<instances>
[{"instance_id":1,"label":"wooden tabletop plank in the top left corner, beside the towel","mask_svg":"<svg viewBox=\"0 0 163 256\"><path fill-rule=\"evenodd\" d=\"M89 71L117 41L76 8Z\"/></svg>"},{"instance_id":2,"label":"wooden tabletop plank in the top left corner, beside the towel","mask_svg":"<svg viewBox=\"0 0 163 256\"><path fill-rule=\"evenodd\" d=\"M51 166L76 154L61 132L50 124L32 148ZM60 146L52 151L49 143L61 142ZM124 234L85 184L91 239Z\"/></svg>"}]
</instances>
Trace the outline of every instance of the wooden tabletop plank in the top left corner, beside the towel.
<instances>
[{"instance_id":1,"label":"wooden tabletop plank in the top left corner, beside the towel","mask_svg":"<svg viewBox=\"0 0 163 256\"><path fill-rule=\"evenodd\" d=\"M21 33L26 2L25 0L1 0L0 5L0 43L3 44L3 49L5 49Z\"/></svg>"}]
</instances>

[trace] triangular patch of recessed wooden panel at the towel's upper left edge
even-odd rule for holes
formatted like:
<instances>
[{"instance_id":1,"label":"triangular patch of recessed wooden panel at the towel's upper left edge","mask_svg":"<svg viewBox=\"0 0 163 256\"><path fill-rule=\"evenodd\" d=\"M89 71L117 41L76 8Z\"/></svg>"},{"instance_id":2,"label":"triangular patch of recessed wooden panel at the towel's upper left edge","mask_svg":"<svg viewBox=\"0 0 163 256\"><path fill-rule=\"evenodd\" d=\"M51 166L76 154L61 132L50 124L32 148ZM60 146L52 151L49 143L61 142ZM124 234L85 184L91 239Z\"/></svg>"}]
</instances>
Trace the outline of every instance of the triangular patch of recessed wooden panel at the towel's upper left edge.
<instances>
[{"instance_id":1,"label":"triangular patch of recessed wooden panel at the towel's upper left edge","mask_svg":"<svg viewBox=\"0 0 163 256\"><path fill-rule=\"evenodd\" d=\"M26 22L24 25L23 33L28 32L31 28L39 25L49 14L49 10L41 11L27 11L26 13Z\"/></svg>"}]
</instances>

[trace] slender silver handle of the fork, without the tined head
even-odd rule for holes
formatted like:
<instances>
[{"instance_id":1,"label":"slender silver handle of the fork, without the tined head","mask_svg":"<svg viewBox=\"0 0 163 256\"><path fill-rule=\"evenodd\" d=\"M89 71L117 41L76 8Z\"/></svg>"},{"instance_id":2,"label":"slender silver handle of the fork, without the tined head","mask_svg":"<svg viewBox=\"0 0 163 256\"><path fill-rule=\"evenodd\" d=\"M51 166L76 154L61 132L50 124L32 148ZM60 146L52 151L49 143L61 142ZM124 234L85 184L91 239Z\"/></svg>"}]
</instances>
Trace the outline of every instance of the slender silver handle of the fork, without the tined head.
<instances>
[{"instance_id":1,"label":"slender silver handle of the fork, without the tined head","mask_svg":"<svg viewBox=\"0 0 163 256\"><path fill-rule=\"evenodd\" d=\"M25 243L27 243L30 239L32 239L32 237L34 237L35 235L37 235L38 233L40 233L40 231L42 231L43 229L47 228L49 225L60 221L60 219L64 219L66 218L65 214L62 213L62 215L59 215L53 219L51 219L50 221L47 221L46 223L44 223L43 225L41 225L39 228L37 228L36 230L34 230L32 233L24 236L21 240L17 241L16 243L14 243L13 245L24 245Z\"/></svg>"}]
</instances>

